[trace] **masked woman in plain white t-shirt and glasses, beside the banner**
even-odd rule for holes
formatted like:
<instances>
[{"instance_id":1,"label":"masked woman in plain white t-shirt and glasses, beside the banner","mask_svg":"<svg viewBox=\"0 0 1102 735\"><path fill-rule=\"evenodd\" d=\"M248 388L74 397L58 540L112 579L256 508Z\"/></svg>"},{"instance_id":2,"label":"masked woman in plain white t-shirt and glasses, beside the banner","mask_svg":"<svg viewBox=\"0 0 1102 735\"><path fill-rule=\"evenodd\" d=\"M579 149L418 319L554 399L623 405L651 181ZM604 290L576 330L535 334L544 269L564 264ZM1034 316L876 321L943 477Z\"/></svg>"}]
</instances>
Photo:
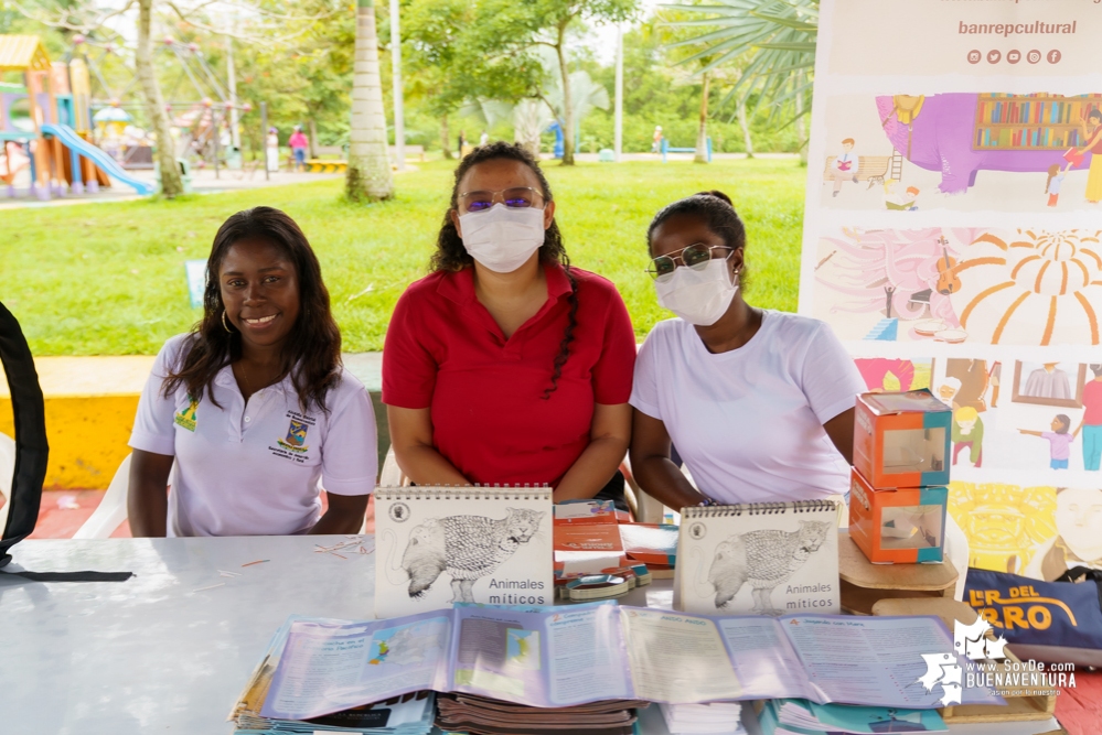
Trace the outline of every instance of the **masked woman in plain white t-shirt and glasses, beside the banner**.
<instances>
[{"instance_id":1,"label":"masked woman in plain white t-shirt and glasses, beside the banner","mask_svg":"<svg viewBox=\"0 0 1102 735\"><path fill-rule=\"evenodd\" d=\"M671 508L845 493L865 383L826 324L742 300L746 228L730 199L675 202L648 240L659 303L678 318L655 325L635 361L631 463L642 489Z\"/></svg>"}]
</instances>

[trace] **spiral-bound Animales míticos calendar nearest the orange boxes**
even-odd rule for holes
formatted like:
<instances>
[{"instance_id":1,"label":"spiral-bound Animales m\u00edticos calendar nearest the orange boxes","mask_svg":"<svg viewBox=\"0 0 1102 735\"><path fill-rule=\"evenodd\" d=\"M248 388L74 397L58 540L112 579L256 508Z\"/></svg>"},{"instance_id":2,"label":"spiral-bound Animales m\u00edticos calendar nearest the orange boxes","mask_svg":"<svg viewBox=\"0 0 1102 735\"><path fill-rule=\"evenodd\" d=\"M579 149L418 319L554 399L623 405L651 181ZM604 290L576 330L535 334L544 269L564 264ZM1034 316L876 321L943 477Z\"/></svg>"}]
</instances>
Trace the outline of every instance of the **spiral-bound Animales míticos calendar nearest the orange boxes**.
<instances>
[{"instance_id":1,"label":"spiral-bound Animales m\u00edticos calendar nearest the orange boxes","mask_svg":"<svg viewBox=\"0 0 1102 735\"><path fill-rule=\"evenodd\" d=\"M674 606L702 615L841 613L833 500L686 508Z\"/></svg>"}]
</instances>

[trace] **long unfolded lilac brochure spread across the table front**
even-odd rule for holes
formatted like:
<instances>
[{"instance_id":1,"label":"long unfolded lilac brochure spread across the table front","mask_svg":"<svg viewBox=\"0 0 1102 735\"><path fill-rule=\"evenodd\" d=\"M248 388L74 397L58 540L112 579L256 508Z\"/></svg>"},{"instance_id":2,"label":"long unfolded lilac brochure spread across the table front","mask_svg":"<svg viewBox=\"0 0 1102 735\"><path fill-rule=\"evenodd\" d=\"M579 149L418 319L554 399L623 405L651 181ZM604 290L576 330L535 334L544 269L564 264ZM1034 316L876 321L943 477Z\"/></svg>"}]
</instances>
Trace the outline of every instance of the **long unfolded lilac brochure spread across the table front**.
<instances>
[{"instance_id":1,"label":"long unfolded lilac brochure spread across the table front","mask_svg":"<svg viewBox=\"0 0 1102 735\"><path fill-rule=\"evenodd\" d=\"M802 698L941 706L923 653L953 653L937 617L707 617L596 603L459 605L404 618L285 626L260 714L304 720L432 689L541 707ZM963 704L1002 704L964 689Z\"/></svg>"}]
</instances>

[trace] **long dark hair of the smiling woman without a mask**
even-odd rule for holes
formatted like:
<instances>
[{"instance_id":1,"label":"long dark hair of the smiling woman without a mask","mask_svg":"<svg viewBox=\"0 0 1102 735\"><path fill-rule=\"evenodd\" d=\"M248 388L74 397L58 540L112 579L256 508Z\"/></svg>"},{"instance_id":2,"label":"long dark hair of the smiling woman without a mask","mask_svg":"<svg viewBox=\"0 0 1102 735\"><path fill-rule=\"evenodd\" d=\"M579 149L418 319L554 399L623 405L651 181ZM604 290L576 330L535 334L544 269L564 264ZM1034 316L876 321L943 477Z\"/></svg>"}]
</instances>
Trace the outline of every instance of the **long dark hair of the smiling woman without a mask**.
<instances>
[{"instance_id":1,"label":"long dark hair of the smiling woman without a mask","mask_svg":"<svg viewBox=\"0 0 1102 735\"><path fill-rule=\"evenodd\" d=\"M205 391L211 401L222 408L214 399L211 386L222 368L240 358L242 341L237 329L227 332L223 325L225 304L222 303L220 275L229 248L245 239L270 242L295 263L300 309L283 345L281 374L290 372L303 411L311 404L328 411L325 394L340 379L341 332L330 312L329 291L321 280L321 266L310 242L293 219L272 207L238 212L218 228L206 261L203 318L189 335L179 368L164 379L164 396L172 394L183 385L193 400L200 400Z\"/></svg>"}]
</instances>

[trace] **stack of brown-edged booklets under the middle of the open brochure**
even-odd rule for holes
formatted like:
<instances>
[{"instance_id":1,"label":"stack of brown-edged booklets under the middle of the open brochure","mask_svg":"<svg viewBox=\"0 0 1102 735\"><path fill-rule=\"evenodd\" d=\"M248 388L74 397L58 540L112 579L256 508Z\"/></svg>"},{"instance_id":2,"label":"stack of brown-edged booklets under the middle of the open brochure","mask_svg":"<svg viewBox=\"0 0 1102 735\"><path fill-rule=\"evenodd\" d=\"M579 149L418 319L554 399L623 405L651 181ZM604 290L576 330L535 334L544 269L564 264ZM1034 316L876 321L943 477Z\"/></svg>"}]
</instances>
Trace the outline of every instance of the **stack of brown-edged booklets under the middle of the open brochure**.
<instances>
[{"instance_id":1,"label":"stack of brown-edged booklets under the middle of the open brochure","mask_svg":"<svg viewBox=\"0 0 1102 735\"><path fill-rule=\"evenodd\" d=\"M441 694L437 726L470 735L631 735L646 702L609 700L569 707L529 707L473 694Z\"/></svg>"}]
</instances>

